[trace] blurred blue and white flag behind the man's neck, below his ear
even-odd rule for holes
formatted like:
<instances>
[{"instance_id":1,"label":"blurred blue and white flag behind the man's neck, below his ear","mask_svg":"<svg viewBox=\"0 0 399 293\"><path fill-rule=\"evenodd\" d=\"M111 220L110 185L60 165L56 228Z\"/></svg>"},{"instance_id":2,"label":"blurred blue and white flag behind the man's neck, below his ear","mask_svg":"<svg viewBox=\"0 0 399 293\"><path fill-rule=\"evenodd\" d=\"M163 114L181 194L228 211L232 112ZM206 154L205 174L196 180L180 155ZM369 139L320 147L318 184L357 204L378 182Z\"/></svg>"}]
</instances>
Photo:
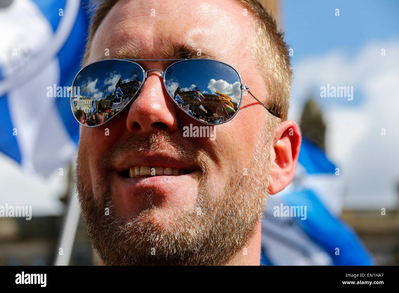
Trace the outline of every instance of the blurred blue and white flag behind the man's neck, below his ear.
<instances>
[{"instance_id":1,"label":"blurred blue and white flag behind the man's neck, below his ear","mask_svg":"<svg viewBox=\"0 0 399 293\"><path fill-rule=\"evenodd\" d=\"M342 220L339 169L302 137L294 179L269 195L262 225L265 265L371 265L373 259Z\"/></svg>"}]
</instances>

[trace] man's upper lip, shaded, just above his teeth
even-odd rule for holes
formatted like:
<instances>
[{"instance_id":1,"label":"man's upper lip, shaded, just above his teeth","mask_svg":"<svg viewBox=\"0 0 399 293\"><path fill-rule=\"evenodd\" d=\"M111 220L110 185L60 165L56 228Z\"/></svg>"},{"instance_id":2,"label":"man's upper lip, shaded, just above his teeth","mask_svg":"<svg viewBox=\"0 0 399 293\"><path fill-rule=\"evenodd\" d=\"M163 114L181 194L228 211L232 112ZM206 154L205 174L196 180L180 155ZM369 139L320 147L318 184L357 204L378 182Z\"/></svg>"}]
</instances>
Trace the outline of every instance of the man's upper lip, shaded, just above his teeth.
<instances>
[{"instance_id":1,"label":"man's upper lip, shaded, just above his teeth","mask_svg":"<svg viewBox=\"0 0 399 293\"><path fill-rule=\"evenodd\" d=\"M128 170L134 166L161 166L190 171L197 169L195 165L189 164L182 159L157 153L132 153L126 157L121 157L114 165L114 169L118 172Z\"/></svg>"}]
</instances>

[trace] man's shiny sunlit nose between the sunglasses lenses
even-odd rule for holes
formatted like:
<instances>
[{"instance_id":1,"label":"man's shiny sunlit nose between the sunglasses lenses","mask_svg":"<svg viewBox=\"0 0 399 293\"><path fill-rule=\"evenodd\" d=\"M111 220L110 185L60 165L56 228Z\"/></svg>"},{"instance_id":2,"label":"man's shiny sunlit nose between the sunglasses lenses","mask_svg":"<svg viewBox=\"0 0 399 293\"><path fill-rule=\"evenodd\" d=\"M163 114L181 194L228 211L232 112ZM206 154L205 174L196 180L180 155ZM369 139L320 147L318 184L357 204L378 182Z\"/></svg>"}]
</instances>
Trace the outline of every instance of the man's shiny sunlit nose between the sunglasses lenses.
<instances>
[{"instance_id":1,"label":"man's shiny sunlit nose between the sunglasses lenses","mask_svg":"<svg viewBox=\"0 0 399 293\"><path fill-rule=\"evenodd\" d=\"M176 109L163 86L162 71L148 70L145 76L138 96L130 105L127 129L130 132L176 131Z\"/></svg>"}]
</instances>

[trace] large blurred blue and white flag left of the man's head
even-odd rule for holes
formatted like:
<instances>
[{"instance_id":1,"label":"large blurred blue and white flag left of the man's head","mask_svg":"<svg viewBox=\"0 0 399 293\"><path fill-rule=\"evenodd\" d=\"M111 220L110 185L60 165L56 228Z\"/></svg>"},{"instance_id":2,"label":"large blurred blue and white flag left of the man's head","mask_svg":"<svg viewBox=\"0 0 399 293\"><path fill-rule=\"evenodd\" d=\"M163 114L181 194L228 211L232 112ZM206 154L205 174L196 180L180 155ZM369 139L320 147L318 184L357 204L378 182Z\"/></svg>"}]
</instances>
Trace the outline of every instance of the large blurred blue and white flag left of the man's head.
<instances>
[{"instance_id":1,"label":"large blurred blue and white flag left of the man's head","mask_svg":"<svg viewBox=\"0 0 399 293\"><path fill-rule=\"evenodd\" d=\"M0 151L29 173L49 175L71 162L79 126L70 87L89 24L76 0L14 0L0 7Z\"/></svg>"}]
</instances>

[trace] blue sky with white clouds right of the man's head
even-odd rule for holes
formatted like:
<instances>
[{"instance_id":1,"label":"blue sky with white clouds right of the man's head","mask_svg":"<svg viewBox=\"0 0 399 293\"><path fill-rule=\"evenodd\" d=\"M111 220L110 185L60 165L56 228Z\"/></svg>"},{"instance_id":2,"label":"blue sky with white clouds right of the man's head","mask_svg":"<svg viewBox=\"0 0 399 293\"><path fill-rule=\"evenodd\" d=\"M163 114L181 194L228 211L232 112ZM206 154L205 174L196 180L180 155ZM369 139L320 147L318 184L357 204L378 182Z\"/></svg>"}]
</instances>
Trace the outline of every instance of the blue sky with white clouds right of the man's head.
<instances>
[{"instance_id":1,"label":"blue sky with white clouds right of the man's head","mask_svg":"<svg viewBox=\"0 0 399 293\"><path fill-rule=\"evenodd\" d=\"M288 118L299 122L311 95L326 122L326 153L341 168L343 205L393 208L399 181L399 1L285 0L280 12L286 43L294 49ZM353 100L320 96L327 84L353 87Z\"/></svg>"}]
</instances>

